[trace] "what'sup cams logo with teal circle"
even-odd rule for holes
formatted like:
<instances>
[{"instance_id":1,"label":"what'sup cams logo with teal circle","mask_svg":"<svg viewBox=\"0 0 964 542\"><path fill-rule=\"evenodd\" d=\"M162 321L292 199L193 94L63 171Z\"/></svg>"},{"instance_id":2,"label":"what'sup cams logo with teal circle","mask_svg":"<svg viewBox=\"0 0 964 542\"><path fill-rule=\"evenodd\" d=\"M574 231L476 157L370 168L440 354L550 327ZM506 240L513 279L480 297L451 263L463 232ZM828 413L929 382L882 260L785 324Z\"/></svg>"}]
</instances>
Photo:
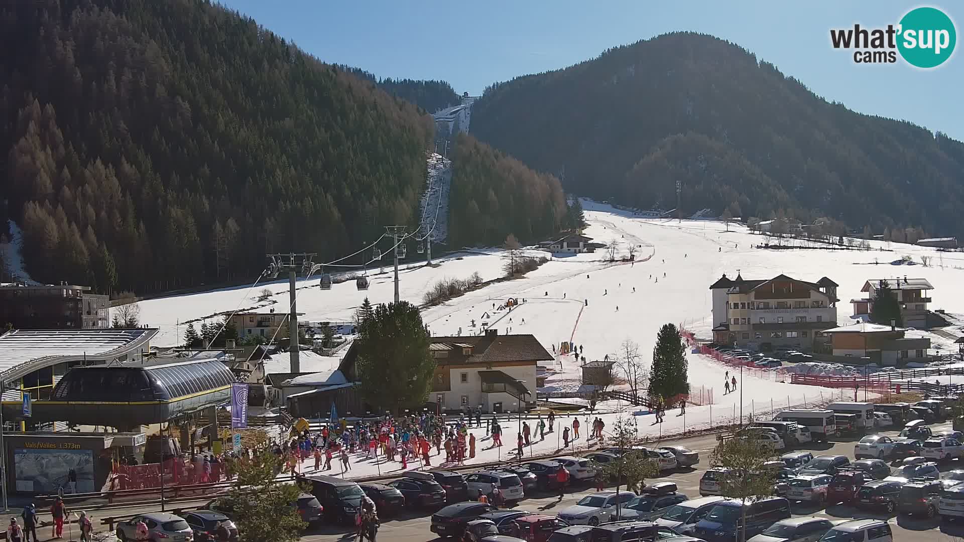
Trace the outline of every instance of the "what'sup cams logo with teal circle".
<instances>
[{"instance_id":1,"label":"what'sup cams logo with teal circle","mask_svg":"<svg viewBox=\"0 0 964 542\"><path fill-rule=\"evenodd\" d=\"M916 8L900 22L887 28L833 29L830 42L835 49L853 49L857 64L894 64L897 54L917 68L937 68L951 58L957 33L954 23L937 8Z\"/></svg>"}]
</instances>

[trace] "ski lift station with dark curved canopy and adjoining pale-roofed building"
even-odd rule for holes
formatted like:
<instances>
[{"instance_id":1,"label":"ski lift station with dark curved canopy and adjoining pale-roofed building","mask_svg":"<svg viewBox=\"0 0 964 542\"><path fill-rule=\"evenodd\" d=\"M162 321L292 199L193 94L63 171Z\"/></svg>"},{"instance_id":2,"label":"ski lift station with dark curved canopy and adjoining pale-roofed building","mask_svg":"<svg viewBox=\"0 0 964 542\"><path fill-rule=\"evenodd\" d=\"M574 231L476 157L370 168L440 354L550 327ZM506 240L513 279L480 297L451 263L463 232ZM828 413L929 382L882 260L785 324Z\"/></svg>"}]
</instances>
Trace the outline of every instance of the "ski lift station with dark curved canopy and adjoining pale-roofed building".
<instances>
[{"instance_id":1,"label":"ski lift station with dark curved canopy and adjoining pale-roofed building","mask_svg":"<svg viewBox=\"0 0 964 542\"><path fill-rule=\"evenodd\" d=\"M0 336L9 492L54 494L62 487L57 476L68 469L77 474L76 491L94 491L112 459L143 462L145 425L174 421L185 441L194 417L214 418L215 407L230 400L231 369L218 358L151 358L156 334L135 328ZM63 466L64 473L45 465Z\"/></svg>"}]
</instances>

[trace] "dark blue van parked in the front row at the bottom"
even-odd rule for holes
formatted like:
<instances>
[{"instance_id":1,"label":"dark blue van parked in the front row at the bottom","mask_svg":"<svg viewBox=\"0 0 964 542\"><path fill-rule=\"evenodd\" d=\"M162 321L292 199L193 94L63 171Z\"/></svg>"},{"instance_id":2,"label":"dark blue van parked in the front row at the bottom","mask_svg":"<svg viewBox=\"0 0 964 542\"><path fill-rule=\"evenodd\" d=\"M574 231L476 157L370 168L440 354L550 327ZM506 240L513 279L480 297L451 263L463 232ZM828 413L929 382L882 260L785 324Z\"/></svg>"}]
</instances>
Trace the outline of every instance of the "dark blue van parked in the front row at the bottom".
<instances>
[{"instance_id":1,"label":"dark blue van parked in the front row at the bottom","mask_svg":"<svg viewBox=\"0 0 964 542\"><path fill-rule=\"evenodd\" d=\"M741 525L741 518L744 516L746 523ZM790 502L780 497L763 497L746 504L722 501L713 506L707 517L696 524L693 535L707 542L731 542L740 538L740 530L749 538L788 518Z\"/></svg>"}]
</instances>

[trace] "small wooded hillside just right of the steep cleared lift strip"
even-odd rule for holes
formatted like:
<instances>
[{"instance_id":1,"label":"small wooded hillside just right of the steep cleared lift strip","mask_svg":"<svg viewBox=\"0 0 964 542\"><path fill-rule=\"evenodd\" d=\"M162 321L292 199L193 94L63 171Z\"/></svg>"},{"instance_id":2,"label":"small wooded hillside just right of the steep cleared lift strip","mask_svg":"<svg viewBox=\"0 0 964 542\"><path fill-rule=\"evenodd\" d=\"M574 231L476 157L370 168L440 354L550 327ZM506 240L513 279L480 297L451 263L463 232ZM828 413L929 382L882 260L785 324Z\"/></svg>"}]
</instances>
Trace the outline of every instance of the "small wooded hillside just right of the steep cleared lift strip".
<instances>
[{"instance_id":1,"label":"small wooded hillside just right of the steep cleared lift strip","mask_svg":"<svg viewBox=\"0 0 964 542\"><path fill-rule=\"evenodd\" d=\"M559 179L459 133L452 149L449 244L501 245L509 233L541 241L568 228Z\"/></svg>"}]
</instances>

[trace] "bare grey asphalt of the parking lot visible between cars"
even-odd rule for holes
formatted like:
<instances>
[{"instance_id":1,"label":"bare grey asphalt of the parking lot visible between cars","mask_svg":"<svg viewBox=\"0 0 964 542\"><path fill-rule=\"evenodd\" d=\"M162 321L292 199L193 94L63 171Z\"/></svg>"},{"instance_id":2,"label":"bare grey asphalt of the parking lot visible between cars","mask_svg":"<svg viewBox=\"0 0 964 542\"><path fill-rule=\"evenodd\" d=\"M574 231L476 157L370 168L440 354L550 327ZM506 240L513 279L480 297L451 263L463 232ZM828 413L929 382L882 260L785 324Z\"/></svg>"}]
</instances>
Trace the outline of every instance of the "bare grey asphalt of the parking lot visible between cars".
<instances>
[{"instance_id":1,"label":"bare grey asphalt of the parking lot visible between cars","mask_svg":"<svg viewBox=\"0 0 964 542\"><path fill-rule=\"evenodd\" d=\"M934 431L950 430L951 423L936 423L931 425ZM879 434L896 436L897 430L883 430ZM796 449L811 450L814 455L819 454L842 454L853 459L854 444L860 437L852 439L835 439L825 444L807 444ZM699 497L700 477L710 466L710 452L716 446L714 435L702 436L677 441L666 441L663 444L677 444L689 447L700 452L700 464L695 469L680 469L677 472L669 473L658 478L658 480L669 480L676 482L679 491L686 494L690 499ZM964 469L964 462L954 460L940 466L942 472L954 469ZM656 479L647 480L647 483L654 483ZM555 515L559 510L575 504L576 501L585 495L595 492L595 488L589 485L576 485L567 491L566 497L559 501L556 496L549 494L529 495L516 505L516 508ZM909 518L905 516L892 516L888 518L885 514L869 513L865 510L857 510L851 506L833 505L825 509L819 508L816 504L790 503L791 511L794 516L817 515L831 519L859 519L876 518L887 519L891 528L894 530L895 540L920 540L920 541L950 541L964 538L964 522L947 523L943 525L940 517L933 519ZM405 512L398 518L383 519L382 527L379 530L379 537L388 537L391 540L405 540L424 542L427 540L441 540L435 533L429 530L431 515L433 510L419 510ZM322 526L312 528L305 536L304 540L335 540L349 539L351 533L346 526Z\"/></svg>"}]
</instances>

